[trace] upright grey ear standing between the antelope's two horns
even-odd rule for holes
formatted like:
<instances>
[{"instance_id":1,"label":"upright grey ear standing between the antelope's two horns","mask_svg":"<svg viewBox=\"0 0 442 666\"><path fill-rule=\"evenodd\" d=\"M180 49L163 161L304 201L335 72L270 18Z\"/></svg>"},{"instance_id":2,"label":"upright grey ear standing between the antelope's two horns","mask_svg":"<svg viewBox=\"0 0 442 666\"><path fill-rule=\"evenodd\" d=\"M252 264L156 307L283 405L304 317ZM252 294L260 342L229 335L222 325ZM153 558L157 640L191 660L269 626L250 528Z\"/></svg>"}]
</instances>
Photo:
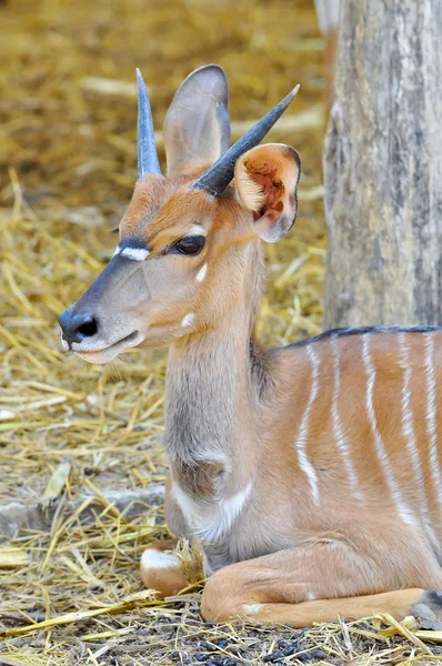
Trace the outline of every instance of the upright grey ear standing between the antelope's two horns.
<instances>
[{"instance_id":1,"label":"upright grey ear standing between the antelope's two horns","mask_svg":"<svg viewBox=\"0 0 442 666\"><path fill-rule=\"evenodd\" d=\"M164 120L168 175L213 164L230 145L224 70L208 64L181 83Z\"/></svg>"}]
</instances>

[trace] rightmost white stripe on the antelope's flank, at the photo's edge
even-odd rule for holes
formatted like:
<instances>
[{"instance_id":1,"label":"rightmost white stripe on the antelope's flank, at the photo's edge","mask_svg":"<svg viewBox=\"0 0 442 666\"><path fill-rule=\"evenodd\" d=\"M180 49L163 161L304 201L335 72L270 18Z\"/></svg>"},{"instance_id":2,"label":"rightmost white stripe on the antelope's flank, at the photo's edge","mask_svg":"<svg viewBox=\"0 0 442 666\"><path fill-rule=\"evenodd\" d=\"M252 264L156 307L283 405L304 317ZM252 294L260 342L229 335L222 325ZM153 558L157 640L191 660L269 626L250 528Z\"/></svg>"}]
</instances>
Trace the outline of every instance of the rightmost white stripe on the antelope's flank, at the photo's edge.
<instances>
[{"instance_id":1,"label":"rightmost white stripe on the antelope's flank, at the photo's edge","mask_svg":"<svg viewBox=\"0 0 442 666\"><path fill-rule=\"evenodd\" d=\"M424 333L425 340L425 384L426 384L426 433L430 445L430 467L438 502L442 505L442 478L438 456L435 377L434 377L434 334Z\"/></svg>"}]
</instances>

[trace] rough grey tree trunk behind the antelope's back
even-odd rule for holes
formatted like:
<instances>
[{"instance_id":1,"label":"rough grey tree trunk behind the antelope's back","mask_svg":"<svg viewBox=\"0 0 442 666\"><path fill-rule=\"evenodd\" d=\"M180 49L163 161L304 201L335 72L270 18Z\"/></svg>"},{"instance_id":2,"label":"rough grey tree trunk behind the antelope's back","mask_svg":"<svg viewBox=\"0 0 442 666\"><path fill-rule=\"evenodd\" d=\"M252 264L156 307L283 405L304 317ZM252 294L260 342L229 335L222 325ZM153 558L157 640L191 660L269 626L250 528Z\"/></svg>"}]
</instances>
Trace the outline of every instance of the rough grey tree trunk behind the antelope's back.
<instances>
[{"instance_id":1,"label":"rough grey tree trunk behind the antelope's back","mask_svg":"<svg viewBox=\"0 0 442 666\"><path fill-rule=\"evenodd\" d=\"M342 0L324 324L442 324L442 1Z\"/></svg>"}]
</instances>

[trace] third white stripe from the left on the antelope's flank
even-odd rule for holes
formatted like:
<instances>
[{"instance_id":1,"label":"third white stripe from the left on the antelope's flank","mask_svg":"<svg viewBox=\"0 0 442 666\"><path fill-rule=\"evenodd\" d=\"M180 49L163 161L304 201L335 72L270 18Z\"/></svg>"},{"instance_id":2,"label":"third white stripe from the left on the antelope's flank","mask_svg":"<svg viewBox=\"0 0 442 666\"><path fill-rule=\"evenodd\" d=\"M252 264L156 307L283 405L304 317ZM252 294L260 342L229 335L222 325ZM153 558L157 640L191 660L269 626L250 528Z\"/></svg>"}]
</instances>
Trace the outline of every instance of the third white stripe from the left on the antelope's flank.
<instances>
[{"instance_id":1,"label":"third white stripe from the left on the antelope's flank","mask_svg":"<svg viewBox=\"0 0 442 666\"><path fill-rule=\"evenodd\" d=\"M399 515L401 516L404 523L415 527L419 523L416 523L413 513L409 509L409 507L404 504L402 500L399 486L393 476L393 471L391 468L390 460L386 454L381 433L378 428L378 420L373 406L373 389L376 379L376 371L374 369L373 361L370 354L370 333L364 333L362 335L362 361L366 376L365 408L369 416L371 433L373 435L378 460L381 463L381 468L385 476L386 485L390 490L391 497L394 504L396 505Z\"/></svg>"}]
</instances>

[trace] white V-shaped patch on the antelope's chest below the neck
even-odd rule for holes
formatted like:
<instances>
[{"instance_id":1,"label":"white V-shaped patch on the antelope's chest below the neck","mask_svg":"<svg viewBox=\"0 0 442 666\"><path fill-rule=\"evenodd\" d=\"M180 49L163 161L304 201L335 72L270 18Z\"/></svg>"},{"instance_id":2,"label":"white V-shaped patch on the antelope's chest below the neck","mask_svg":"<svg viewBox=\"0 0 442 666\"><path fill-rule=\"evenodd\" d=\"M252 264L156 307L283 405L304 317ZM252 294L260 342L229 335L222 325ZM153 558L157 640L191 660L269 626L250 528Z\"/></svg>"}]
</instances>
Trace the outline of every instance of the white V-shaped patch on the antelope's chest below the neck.
<instances>
[{"instance_id":1,"label":"white V-shaped patch on the antelope's chest below the neck","mask_svg":"<svg viewBox=\"0 0 442 666\"><path fill-rule=\"evenodd\" d=\"M217 504L193 500L175 481L172 485L172 494L194 535L208 544L217 542L231 528L244 508L252 487L253 483L250 482L244 490Z\"/></svg>"}]
</instances>

